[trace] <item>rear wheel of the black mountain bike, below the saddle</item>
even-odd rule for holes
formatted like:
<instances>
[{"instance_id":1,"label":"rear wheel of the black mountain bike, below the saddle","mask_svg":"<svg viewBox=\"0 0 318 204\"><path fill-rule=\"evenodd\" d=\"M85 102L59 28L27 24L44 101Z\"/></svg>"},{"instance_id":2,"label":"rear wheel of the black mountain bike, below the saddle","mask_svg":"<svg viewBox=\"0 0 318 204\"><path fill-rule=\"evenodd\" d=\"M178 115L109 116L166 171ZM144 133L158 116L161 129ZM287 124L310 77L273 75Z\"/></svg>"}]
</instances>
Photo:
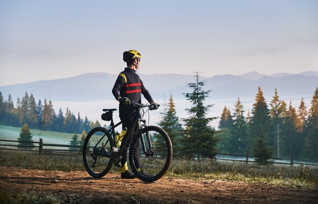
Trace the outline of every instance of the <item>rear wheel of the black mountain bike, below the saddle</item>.
<instances>
[{"instance_id":1,"label":"rear wheel of the black mountain bike, below the saddle","mask_svg":"<svg viewBox=\"0 0 318 204\"><path fill-rule=\"evenodd\" d=\"M113 146L113 139L105 128L97 127L89 131L83 145L83 162L90 176L101 178L109 172Z\"/></svg>"}]
</instances>

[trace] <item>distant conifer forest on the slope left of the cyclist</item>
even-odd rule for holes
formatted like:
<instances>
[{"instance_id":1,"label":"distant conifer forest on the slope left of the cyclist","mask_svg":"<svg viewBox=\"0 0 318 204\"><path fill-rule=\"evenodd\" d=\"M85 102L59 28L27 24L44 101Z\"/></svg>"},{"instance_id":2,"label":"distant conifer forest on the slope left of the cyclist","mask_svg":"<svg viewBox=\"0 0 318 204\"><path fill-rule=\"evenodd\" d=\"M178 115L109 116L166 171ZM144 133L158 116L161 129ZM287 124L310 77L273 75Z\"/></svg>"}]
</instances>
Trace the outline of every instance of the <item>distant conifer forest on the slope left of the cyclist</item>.
<instances>
[{"instance_id":1,"label":"distant conifer forest on the slope left of the cyclist","mask_svg":"<svg viewBox=\"0 0 318 204\"><path fill-rule=\"evenodd\" d=\"M47 102L44 99L42 103L40 99L36 103L33 94L29 96L27 92L21 100L17 99L16 105L10 94L8 100L4 100L0 92L0 124L13 127L27 124L30 129L78 134L83 130L88 132L93 127L101 126L98 120L93 122L86 116L82 119L79 112L76 117L69 108L65 114L59 108L56 114L51 100Z\"/></svg>"}]
</instances>

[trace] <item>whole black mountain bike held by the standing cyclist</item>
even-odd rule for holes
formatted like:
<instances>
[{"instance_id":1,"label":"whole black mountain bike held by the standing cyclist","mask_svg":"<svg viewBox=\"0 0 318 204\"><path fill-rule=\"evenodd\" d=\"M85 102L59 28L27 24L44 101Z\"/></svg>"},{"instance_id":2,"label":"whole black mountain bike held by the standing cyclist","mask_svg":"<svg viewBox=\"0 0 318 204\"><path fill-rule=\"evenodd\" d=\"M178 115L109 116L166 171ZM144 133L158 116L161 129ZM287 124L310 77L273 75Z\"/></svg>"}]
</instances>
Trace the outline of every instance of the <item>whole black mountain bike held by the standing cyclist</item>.
<instances>
[{"instance_id":1,"label":"whole black mountain bike held by the standing cyclist","mask_svg":"<svg viewBox=\"0 0 318 204\"><path fill-rule=\"evenodd\" d=\"M142 119L145 113L144 108L149 110L151 105L131 101L131 106L135 107L135 110L116 125L113 121L113 112L117 109L103 109L105 113L102 114L102 119L111 121L110 129L97 127L87 134L83 145L83 162L90 176L102 178L109 172L113 164L118 168L121 167L120 159L128 137L123 137L121 145L116 146L115 128L130 117L133 117L132 123L125 135L130 134L136 123L139 127L129 149L129 162L133 173L142 181L152 182L160 179L168 171L172 160L172 144L168 134L160 127L147 126L146 120ZM139 147L142 148L139 149ZM143 170L148 172L148 177L140 174L135 166L133 152L136 150L139 151L140 164Z\"/></svg>"}]
</instances>

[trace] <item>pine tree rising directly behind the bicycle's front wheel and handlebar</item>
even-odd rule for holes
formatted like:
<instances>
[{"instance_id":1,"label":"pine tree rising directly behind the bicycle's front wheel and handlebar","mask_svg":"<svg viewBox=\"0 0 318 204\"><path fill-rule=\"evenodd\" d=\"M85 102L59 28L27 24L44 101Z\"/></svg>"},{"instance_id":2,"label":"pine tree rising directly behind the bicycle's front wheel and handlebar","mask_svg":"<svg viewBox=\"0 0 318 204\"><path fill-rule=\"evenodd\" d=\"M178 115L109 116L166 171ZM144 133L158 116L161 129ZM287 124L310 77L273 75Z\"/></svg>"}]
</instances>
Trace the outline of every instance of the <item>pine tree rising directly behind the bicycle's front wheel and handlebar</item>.
<instances>
[{"instance_id":1,"label":"pine tree rising directly behind the bicycle's front wheel and handlebar","mask_svg":"<svg viewBox=\"0 0 318 204\"><path fill-rule=\"evenodd\" d=\"M165 105L165 111L162 112L161 115L162 119L160 120L158 125L168 133L173 145L174 154L181 154L182 152L180 151L180 140L182 138L182 127L179 123L179 118L175 110L172 95L170 95L168 107L166 107Z\"/></svg>"}]
</instances>

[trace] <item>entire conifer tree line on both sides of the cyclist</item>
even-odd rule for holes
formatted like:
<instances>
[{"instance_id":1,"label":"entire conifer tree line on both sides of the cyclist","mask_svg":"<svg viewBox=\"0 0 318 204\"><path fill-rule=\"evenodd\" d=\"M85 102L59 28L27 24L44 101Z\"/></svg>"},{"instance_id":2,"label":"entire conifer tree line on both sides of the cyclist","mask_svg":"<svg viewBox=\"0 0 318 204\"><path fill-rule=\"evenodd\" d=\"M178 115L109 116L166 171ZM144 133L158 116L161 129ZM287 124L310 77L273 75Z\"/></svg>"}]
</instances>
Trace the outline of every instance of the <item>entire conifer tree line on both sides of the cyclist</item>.
<instances>
[{"instance_id":1,"label":"entire conifer tree line on both sides of the cyclist","mask_svg":"<svg viewBox=\"0 0 318 204\"><path fill-rule=\"evenodd\" d=\"M164 111L161 113L158 125L170 136L175 156L200 159L213 158L217 153L240 155L247 153L257 157L256 161L260 164L266 164L272 157L290 158L293 156L300 159L318 159L318 88L313 94L311 107L307 111L303 99L296 110L291 102L288 106L279 99L276 89L269 108L263 91L259 87L251 112L248 111L247 116L244 116L245 110L238 98L234 104L233 113L230 108L224 108L217 131L209 125L216 117L208 116L208 111L213 105L204 104L210 94L210 91L204 90L204 86L205 81L200 80L197 72L195 83L188 83L192 92L183 94L190 103L190 106L185 109L187 118L178 118L172 95L170 95L169 102L164 104ZM27 102L25 102L26 99L28 99ZM15 118L13 120L16 123L19 122L16 124L17 126L28 121L30 127L54 131L60 131L59 127L63 127L62 130L65 132L81 133L80 140L77 134L74 135L70 141L72 145L81 145L86 137L86 132L94 126L100 126L98 121L92 123L86 117L85 120L82 120L79 113L78 119L76 119L69 109L65 116L61 110L58 115L54 116L51 101L47 103L45 100L44 106L41 107L40 100L37 106L29 105L35 104L32 102L33 100L32 95L28 97L25 93L21 102L18 99L16 108L10 100L10 95L8 101L2 102L3 100L1 100L0 105L3 105L0 107L5 108L1 110L0 114L8 114L8 110L11 112L4 117L6 120L2 123L7 123L7 120L10 121L12 117ZM39 110L42 111L39 112ZM37 114L30 114L33 112ZM57 123L58 118L63 119Z\"/></svg>"}]
</instances>

